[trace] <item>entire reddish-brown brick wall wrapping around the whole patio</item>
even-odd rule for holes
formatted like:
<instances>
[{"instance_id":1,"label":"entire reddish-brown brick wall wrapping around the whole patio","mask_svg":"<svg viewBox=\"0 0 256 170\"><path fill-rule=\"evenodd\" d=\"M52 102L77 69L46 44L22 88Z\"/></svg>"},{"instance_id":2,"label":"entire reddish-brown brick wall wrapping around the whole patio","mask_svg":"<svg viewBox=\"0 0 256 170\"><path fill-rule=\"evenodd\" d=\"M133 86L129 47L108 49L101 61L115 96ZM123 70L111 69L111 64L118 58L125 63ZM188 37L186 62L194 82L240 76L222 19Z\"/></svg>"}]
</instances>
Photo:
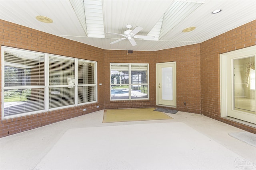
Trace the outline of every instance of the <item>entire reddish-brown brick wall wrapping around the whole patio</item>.
<instances>
[{"instance_id":1,"label":"entire reddish-brown brick wall wrapping around the whole patio","mask_svg":"<svg viewBox=\"0 0 256 170\"><path fill-rule=\"evenodd\" d=\"M0 137L105 108L155 107L156 63L171 61L177 63L177 110L202 113L256 133L255 128L220 117L219 80L219 54L255 44L256 21L252 21L200 44L126 55L126 51L103 50L0 20L0 45L98 61L98 84L102 83L98 86L98 103L0 120ZM110 63L149 63L150 99L110 102ZM85 107L87 111L82 111Z\"/></svg>"}]
</instances>

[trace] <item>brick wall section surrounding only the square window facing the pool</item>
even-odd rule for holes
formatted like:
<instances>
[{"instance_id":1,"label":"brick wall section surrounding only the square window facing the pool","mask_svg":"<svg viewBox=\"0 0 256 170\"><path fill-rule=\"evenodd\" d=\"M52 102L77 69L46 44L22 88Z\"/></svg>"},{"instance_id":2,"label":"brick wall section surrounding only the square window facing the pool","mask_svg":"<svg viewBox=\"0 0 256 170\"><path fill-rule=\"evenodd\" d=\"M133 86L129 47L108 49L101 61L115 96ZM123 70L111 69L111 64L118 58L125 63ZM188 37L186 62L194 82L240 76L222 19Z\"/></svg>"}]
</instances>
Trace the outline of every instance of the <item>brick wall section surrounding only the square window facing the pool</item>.
<instances>
[{"instance_id":1,"label":"brick wall section surrounding only the square window facing the pool","mask_svg":"<svg viewBox=\"0 0 256 170\"><path fill-rule=\"evenodd\" d=\"M104 88L105 88L105 108L106 109L118 109L118 108L142 108L142 107L154 107L155 102L155 84L156 84L156 64L154 63L155 52L152 51L134 51L128 53L126 51L118 50L105 50L105 76L104 76ZM149 63L149 100L122 100L122 101L110 101L110 63Z\"/></svg>"}]
</instances>

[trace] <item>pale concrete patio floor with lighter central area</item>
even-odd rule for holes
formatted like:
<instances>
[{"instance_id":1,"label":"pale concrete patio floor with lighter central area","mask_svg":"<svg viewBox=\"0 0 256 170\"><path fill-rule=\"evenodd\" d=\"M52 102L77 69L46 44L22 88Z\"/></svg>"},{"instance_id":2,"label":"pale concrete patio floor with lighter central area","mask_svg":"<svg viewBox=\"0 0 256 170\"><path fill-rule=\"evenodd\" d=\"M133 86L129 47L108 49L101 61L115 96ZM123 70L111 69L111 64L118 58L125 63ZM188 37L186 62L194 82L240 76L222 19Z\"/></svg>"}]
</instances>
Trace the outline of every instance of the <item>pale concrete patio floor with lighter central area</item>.
<instances>
[{"instance_id":1,"label":"pale concrete patio floor with lighter central area","mask_svg":"<svg viewBox=\"0 0 256 170\"><path fill-rule=\"evenodd\" d=\"M256 164L256 148L235 139L228 135L232 132L242 132L243 130L236 127L227 125L220 121L216 121L204 115L186 113L178 111L176 114L166 113L174 119L169 120L157 120L157 121L132 121L132 122L119 122L119 123L102 123L103 110L83 115L80 117L75 117L37 129L32 129L30 131L25 131L8 137L3 137L0 139L0 169L1 170L36 170L36 169L248 169L246 164L250 164L251 169L255 169ZM118 128L117 128L118 127ZM164 128L166 127L166 128ZM168 128L167 128L168 127ZM129 129L138 129L139 135L148 133L148 136L143 136L140 142L148 143L147 141L155 140L155 143L161 143L161 145L170 150L188 150L186 156L182 157L179 152L170 154L168 157L162 152L161 155L150 151L152 149L144 148L145 150L139 150L140 152L145 152L145 155L152 154L150 158L154 155L161 157L159 160L152 163L150 158L141 158L141 160L130 160L131 157L125 157L126 160L129 159L129 166L125 162L120 162L118 156L118 147L133 148L136 143L135 139L138 136L132 133L127 133ZM146 129L150 129L147 132ZM156 130L154 130L156 129ZM170 130L172 129L172 130ZM183 131L182 131L183 129ZM126 133L122 133L125 132ZM137 131L137 130L136 130ZM96 141L86 140L87 138L82 137L83 134L91 135L90 139L98 137ZM100 134L96 136L96 134ZM108 133L108 136L104 134ZM113 134L118 133L118 137ZM76 135L77 134L77 135ZM166 135L167 134L167 135ZM122 144L115 144L117 148L116 155L108 155L105 148L111 148L111 143L117 140L124 139L126 135L129 137L131 142L125 143L125 141L120 141ZM179 136L180 135L180 136ZM193 135L191 137L191 135ZM156 137L154 137L156 136ZM170 136L167 142L163 142L161 137ZM172 137L175 139L172 139ZM111 138L111 139L110 139ZM121 138L121 139L120 139ZM173 141L172 141L173 140ZM211 141L211 142L209 142ZM185 142L185 143L184 143ZM70 145L72 143L72 145ZM183 143L184 145L179 145ZM124 145L125 144L125 145ZM88 147L89 145L89 147ZM104 145L104 147L102 147ZM107 146L106 146L107 145ZM111 145L111 146L110 146ZM159 147L161 145L157 145ZM190 152L189 148L186 146L192 146L197 149L197 152ZM68 147L69 146L69 147ZM74 148L70 147L74 146ZM85 148L87 146L88 148ZM112 146L113 147L113 146ZM149 147L149 146L148 146ZM90 153L88 150L90 148L98 148L98 159L94 157L95 160L90 160L86 162L86 166L83 159L85 154L88 156L86 159L90 158ZM81 149L81 150L80 150ZM88 149L86 152L83 149ZM113 149L113 148L112 148ZM137 148L138 149L138 148ZM167 149L167 150L168 150ZM153 150L153 149L152 149ZM212 151L211 151L212 150ZM215 152L218 150L218 152ZM64 152L65 151L65 152ZM94 150L95 151L95 150ZM127 155L136 154L138 150L127 150ZM125 154L126 152L122 152ZM166 151L168 152L168 151ZM171 151L170 151L171 152ZM65 154L69 154L68 156ZM188 157L190 154L195 154L195 156ZM102 157L105 155L105 157ZM226 156L225 156L226 155ZM229 155L229 156L228 156ZM65 157L66 156L66 157ZM111 158L113 156L113 158ZM173 162L170 166L171 160L174 157L181 156L181 159L176 158L176 164L174 166ZM147 157L147 156L144 156ZM200 162L194 157L199 157ZM227 158L229 157L229 158ZM105 158L108 162L104 162ZM168 159L166 159L168 158ZM210 160L209 160L210 158ZM226 160L227 159L227 160ZM232 161L232 164L225 162ZM74 162L74 160L77 160ZM110 161L111 160L111 161ZM141 162L146 162L148 160L148 166L141 166ZM166 160L164 162L164 160ZM74 164L70 165L69 161L73 161ZM210 161L210 162L209 162ZM68 163L68 164L65 164ZM92 163L90 163L92 162ZM93 164L93 162L101 162L101 164ZM169 162L169 163L168 163ZM206 165L203 164L206 162ZM207 163L208 162L208 163ZM158 164L159 163L159 164ZM165 166L166 164L166 166ZM241 166L238 166L240 164ZM150 166L149 166L150 165Z\"/></svg>"}]
</instances>

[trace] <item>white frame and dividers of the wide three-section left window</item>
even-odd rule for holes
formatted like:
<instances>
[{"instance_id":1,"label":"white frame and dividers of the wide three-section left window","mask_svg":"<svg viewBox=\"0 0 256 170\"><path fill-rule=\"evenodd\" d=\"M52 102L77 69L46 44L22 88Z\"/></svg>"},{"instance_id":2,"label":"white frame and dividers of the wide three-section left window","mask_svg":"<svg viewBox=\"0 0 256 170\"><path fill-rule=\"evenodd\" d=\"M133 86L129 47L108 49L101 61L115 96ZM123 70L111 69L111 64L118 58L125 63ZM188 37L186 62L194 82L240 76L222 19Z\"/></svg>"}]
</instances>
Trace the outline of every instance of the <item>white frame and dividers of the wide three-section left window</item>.
<instances>
[{"instance_id":1,"label":"white frame and dividers of the wide three-section left window","mask_svg":"<svg viewBox=\"0 0 256 170\"><path fill-rule=\"evenodd\" d=\"M4 87L4 51L5 48L7 49L16 49L21 51L27 51L27 52L34 52L34 53L40 53L40 54L44 54L44 86L26 86L26 88L44 88L44 109L42 110L38 110L38 111L32 111L32 112L27 112L27 113L20 113L20 114L15 114L15 115L9 115L9 116L4 116L4 90L5 89L16 89L16 88L24 88L24 86L12 86L12 87ZM92 103L97 103L98 102L98 86L97 86L97 62L96 61L89 61L89 60L84 60L84 59L77 59L77 58L73 58L75 60L75 93L74 93L74 97L75 97L75 104L74 105L67 105L67 106L61 106L61 107L54 107L49 109L49 55L54 56L54 57L65 57L65 56L60 56L60 55L52 55L52 54L48 54L48 53L41 53L41 52L36 52L36 51L30 51L30 50L24 50L24 49L17 49L17 48L13 48L13 47L6 47L6 46L1 46L1 58L2 58L2 64L1 64L1 69L2 69L2 94L1 94L1 99L2 99L2 120L3 119L10 119L10 118L14 118L14 117L21 117L24 115L33 115L36 113L42 113L42 112L46 112L46 111L52 111L52 110L57 110L57 109L64 109L64 108L68 108L68 107L74 107L74 106L81 106L81 105L85 105L85 104L92 104ZM67 58L72 58L72 57L67 57ZM85 102L85 103L80 103L78 104L78 60L82 60L88 63L94 63L94 78L95 78L95 84L88 84L88 86L95 86L95 92L94 92L94 96L95 96L95 101L92 102ZM67 85L68 86L68 85ZM87 85L84 85L87 86Z\"/></svg>"}]
</instances>

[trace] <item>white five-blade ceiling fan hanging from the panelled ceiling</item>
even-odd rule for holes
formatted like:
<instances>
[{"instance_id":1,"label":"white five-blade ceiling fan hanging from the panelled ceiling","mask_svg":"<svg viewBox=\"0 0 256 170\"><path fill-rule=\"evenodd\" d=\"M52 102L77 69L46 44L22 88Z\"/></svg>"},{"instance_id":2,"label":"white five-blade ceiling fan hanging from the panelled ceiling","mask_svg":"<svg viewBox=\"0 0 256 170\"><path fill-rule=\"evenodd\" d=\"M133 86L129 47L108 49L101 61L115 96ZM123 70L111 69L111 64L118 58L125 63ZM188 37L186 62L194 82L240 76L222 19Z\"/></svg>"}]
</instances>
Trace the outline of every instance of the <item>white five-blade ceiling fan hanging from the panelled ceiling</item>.
<instances>
[{"instance_id":1,"label":"white five-blade ceiling fan hanging from the panelled ceiling","mask_svg":"<svg viewBox=\"0 0 256 170\"><path fill-rule=\"evenodd\" d=\"M140 32L142 30L142 27L135 27L133 30L130 30L132 28L132 25L126 25L126 28L128 30L124 31L124 34L118 34L118 33L109 33L109 34L116 34L116 35L122 35L124 38L120 38L116 41L111 42L110 44L114 44L117 43L119 41L122 41L123 39L128 39L130 41L130 43L132 44L132 46L137 45L137 43L135 42L134 38L138 38L138 39L154 39L154 36L149 36L149 35L136 35L138 32Z\"/></svg>"}]
</instances>

